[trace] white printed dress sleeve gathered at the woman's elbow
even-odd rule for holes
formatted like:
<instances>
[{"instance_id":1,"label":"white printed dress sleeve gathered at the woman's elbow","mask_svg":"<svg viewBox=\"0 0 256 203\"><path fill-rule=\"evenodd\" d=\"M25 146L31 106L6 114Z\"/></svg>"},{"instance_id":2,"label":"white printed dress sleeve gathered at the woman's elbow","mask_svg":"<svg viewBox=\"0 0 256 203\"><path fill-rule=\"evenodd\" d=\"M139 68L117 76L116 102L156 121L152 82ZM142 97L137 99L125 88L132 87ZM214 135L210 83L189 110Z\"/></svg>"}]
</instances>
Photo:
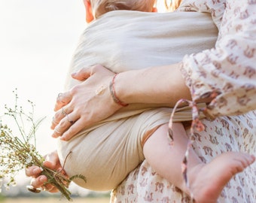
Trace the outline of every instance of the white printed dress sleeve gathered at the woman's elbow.
<instances>
[{"instance_id":1,"label":"white printed dress sleeve gathered at the woman's elbow","mask_svg":"<svg viewBox=\"0 0 256 203\"><path fill-rule=\"evenodd\" d=\"M181 71L193 101L212 97L211 117L256 109L256 2L227 0L212 50L185 56Z\"/></svg>"}]
</instances>

